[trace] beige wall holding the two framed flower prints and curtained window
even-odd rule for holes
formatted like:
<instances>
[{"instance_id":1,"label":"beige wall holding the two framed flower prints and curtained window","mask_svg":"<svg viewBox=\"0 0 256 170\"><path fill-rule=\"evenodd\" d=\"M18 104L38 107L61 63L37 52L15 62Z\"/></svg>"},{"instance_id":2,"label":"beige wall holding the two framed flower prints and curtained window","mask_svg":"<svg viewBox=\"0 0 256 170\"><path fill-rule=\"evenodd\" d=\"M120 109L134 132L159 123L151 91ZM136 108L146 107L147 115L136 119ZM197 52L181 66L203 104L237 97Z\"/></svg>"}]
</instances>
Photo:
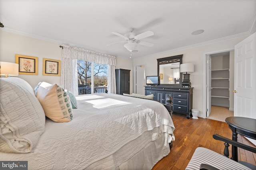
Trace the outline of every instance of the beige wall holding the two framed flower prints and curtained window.
<instances>
[{"instance_id":1,"label":"beige wall holding the two framed flower prints and curtained window","mask_svg":"<svg viewBox=\"0 0 256 170\"><path fill-rule=\"evenodd\" d=\"M43 58L62 60L61 44L52 43L40 39L34 39L23 35L17 35L5 31L0 31L0 61L15 63L15 54L38 57L38 75L20 74L18 77L26 80L32 88L38 82L48 82L60 84L60 76L43 76L42 64ZM131 70L132 76L132 60L121 57L116 58L116 68ZM131 77L132 92L132 77Z\"/></svg>"}]
</instances>

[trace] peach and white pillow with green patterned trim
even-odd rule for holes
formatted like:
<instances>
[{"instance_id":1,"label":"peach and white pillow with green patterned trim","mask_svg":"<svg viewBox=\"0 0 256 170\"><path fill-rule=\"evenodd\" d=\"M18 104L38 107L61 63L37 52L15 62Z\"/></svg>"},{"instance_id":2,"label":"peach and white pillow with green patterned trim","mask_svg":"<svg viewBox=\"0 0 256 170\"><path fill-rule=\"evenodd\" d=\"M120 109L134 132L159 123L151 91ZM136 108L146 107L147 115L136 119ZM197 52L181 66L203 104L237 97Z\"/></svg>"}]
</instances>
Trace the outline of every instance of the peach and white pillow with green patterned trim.
<instances>
[{"instance_id":1,"label":"peach and white pillow with green patterned trim","mask_svg":"<svg viewBox=\"0 0 256 170\"><path fill-rule=\"evenodd\" d=\"M68 93L58 84L42 82L37 89L36 98L41 103L47 117L56 122L72 120L72 106Z\"/></svg>"}]
</instances>

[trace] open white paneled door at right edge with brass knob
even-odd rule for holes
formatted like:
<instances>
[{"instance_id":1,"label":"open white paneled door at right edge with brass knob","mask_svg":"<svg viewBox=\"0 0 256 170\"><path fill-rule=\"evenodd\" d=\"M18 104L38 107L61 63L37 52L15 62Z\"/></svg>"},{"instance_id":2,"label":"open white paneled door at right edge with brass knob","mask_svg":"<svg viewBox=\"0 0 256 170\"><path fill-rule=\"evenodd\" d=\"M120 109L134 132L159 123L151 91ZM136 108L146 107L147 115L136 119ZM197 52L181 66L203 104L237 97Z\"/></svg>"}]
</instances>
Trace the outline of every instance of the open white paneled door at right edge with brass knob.
<instances>
[{"instance_id":1,"label":"open white paneled door at right edge with brass knob","mask_svg":"<svg viewBox=\"0 0 256 170\"><path fill-rule=\"evenodd\" d=\"M235 46L234 116L256 119L256 33Z\"/></svg>"}]
</instances>

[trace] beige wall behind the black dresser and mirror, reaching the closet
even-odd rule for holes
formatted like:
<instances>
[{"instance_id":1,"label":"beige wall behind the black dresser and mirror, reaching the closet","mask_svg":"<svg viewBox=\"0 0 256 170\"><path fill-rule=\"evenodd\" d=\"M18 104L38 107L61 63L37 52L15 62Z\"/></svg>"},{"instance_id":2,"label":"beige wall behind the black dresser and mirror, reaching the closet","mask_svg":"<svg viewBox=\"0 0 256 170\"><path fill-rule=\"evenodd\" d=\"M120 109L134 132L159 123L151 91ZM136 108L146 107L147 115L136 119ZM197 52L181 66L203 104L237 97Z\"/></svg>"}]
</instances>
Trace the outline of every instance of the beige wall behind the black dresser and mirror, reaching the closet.
<instances>
[{"instance_id":1,"label":"beige wall behind the black dresser and mirror, reaching the closet","mask_svg":"<svg viewBox=\"0 0 256 170\"><path fill-rule=\"evenodd\" d=\"M245 37L244 37L245 38ZM204 57L206 53L214 53L219 51L224 51L225 49L234 49L234 45L242 41L244 38L222 41L219 43L212 43L209 45L203 45L200 47L194 47L190 49L177 50L161 55L154 55L153 57L142 57L133 60L133 65L138 63L146 63L146 76L156 75L157 74L157 60L163 57L170 57L175 55L182 55L182 63L193 63L194 72L190 74L190 82L193 89L193 109L198 109L200 111L200 117L206 117L206 112L204 111L205 116L203 116L203 76L206 74L204 70Z\"/></svg>"}]
</instances>

